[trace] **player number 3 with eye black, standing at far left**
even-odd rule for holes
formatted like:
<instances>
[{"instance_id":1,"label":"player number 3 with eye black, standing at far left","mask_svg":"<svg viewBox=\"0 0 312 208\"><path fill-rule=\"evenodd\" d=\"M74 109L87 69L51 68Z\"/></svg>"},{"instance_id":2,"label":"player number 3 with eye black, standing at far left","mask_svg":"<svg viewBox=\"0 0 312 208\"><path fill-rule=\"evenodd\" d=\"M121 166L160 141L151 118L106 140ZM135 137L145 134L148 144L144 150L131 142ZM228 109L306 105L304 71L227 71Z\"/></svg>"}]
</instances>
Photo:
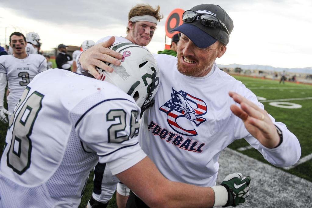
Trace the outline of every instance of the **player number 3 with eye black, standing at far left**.
<instances>
[{"instance_id":1,"label":"player number 3 with eye black, standing at far left","mask_svg":"<svg viewBox=\"0 0 312 208\"><path fill-rule=\"evenodd\" d=\"M26 53L26 38L22 33L13 32L10 35L10 46L13 54L0 56L0 120L4 123L8 122L6 115L12 114L25 87L38 73L46 70L44 56ZM10 93L7 96L6 110L3 107L3 97L7 83Z\"/></svg>"}]
</instances>

